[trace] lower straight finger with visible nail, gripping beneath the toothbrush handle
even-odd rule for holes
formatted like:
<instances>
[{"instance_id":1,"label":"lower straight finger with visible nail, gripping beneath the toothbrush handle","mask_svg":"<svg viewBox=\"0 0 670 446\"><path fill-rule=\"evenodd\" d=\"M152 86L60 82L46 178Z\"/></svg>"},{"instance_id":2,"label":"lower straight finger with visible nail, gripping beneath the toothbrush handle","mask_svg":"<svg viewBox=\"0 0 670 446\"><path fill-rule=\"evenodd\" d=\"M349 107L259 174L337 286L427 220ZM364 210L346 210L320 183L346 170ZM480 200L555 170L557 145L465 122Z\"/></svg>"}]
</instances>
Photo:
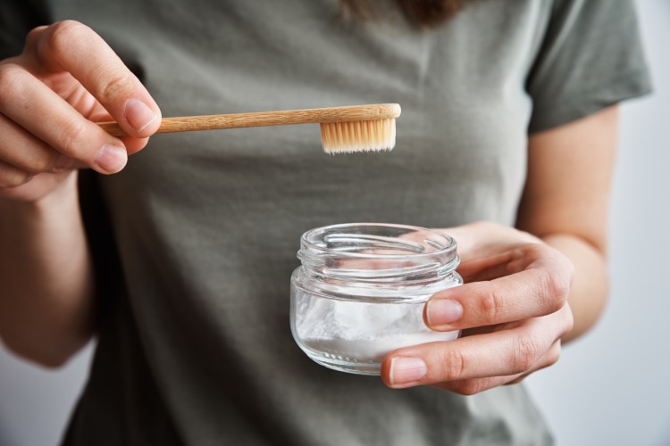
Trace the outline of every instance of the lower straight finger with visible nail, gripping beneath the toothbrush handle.
<instances>
[{"instance_id":1,"label":"lower straight finger with visible nail, gripping beneath the toothbrush handle","mask_svg":"<svg viewBox=\"0 0 670 446\"><path fill-rule=\"evenodd\" d=\"M0 113L46 145L101 173L125 166L121 141L81 116L61 96L13 64L0 66Z\"/></svg>"}]
</instances>

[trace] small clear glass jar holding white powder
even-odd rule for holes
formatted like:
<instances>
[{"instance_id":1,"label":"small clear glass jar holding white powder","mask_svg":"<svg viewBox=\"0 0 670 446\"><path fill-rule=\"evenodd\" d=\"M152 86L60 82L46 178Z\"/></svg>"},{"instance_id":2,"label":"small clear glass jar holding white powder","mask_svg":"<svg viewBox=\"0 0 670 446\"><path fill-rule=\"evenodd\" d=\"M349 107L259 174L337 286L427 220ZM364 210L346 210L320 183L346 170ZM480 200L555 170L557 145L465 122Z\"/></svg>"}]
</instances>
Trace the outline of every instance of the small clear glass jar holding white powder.
<instances>
[{"instance_id":1,"label":"small clear glass jar holding white powder","mask_svg":"<svg viewBox=\"0 0 670 446\"><path fill-rule=\"evenodd\" d=\"M291 332L322 366L379 375L400 347L450 341L423 306L440 290L463 284L456 241L423 227L354 223L307 231L291 277Z\"/></svg>"}]
</instances>

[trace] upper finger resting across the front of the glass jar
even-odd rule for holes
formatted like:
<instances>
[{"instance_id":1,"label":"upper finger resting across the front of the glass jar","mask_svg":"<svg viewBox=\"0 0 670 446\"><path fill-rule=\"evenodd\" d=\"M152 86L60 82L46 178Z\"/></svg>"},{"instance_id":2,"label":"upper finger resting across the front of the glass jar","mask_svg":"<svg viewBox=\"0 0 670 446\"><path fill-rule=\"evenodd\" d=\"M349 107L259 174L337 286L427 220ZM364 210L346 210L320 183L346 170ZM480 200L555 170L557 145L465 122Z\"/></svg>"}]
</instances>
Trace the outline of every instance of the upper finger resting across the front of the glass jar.
<instances>
[{"instance_id":1,"label":"upper finger resting across the front of the glass jar","mask_svg":"<svg viewBox=\"0 0 670 446\"><path fill-rule=\"evenodd\" d=\"M560 310L567 300L572 264L543 244L513 251L504 268L508 276L474 282L436 293L424 319L434 330L491 326Z\"/></svg>"}]
</instances>

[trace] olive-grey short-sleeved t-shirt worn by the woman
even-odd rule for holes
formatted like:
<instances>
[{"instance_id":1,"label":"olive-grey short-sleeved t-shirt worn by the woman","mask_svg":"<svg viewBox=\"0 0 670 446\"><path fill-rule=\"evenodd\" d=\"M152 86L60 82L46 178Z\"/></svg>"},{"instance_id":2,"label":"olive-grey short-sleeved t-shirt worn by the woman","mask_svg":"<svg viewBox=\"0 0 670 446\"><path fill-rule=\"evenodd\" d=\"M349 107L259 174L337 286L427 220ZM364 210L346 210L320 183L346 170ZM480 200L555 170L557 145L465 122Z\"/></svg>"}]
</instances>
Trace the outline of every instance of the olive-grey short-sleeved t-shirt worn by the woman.
<instances>
[{"instance_id":1,"label":"olive-grey short-sleeved t-shirt worn by the woman","mask_svg":"<svg viewBox=\"0 0 670 446\"><path fill-rule=\"evenodd\" d=\"M82 181L105 293L64 444L552 442L521 385L398 391L316 365L289 277L313 227L514 225L528 134L649 90L632 4L476 0L419 29L372 3L361 22L339 0L3 0L3 56L31 26L82 21L163 116L403 107L389 153L326 155L315 126L160 135Z\"/></svg>"}]
</instances>

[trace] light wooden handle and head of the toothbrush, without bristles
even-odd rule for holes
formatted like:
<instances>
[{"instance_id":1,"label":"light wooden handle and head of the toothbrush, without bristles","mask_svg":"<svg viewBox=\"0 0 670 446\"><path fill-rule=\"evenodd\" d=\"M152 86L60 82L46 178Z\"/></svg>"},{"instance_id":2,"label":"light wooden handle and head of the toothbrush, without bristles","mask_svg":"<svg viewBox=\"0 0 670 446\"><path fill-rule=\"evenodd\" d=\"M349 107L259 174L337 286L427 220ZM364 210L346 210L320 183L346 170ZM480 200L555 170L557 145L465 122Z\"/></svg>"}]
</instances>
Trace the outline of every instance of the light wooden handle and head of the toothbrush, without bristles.
<instances>
[{"instance_id":1,"label":"light wooden handle and head of the toothbrush, without bristles","mask_svg":"<svg viewBox=\"0 0 670 446\"><path fill-rule=\"evenodd\" d=\"M219 128L246 128L266 126L289 126L295 124L325 124L328 122L353 122L398 118L398 103L374 105L351 105L320 109L260 111L255 113L216 114L163 118L156 133L189 132ZM128 136L116 122L98 124L112 136Z\"/></svg>"}]
</instances>

